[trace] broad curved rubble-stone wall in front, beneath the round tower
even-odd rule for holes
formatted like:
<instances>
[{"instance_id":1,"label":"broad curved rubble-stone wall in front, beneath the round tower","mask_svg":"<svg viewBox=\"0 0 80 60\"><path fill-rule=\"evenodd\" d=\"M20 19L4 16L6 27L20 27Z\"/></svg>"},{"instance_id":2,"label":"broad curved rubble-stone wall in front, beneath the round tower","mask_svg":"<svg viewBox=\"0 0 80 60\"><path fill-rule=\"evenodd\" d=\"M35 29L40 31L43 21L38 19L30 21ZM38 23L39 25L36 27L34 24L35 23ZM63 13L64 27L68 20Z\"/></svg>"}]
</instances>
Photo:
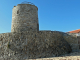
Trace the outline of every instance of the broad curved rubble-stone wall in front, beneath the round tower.
<instances>
[{"instance_id":1,"label":"broad curved rubble-stone wall in front, beneath the round tower","mask_svg":"<svg viewBox=\"0 0 80 60\"><path fill-rule=\"evenodd\" d=\"M0 43L0 60L48 58L72 51L63 35L55 31L3 33Z\"/></svg>"}]
</instances>

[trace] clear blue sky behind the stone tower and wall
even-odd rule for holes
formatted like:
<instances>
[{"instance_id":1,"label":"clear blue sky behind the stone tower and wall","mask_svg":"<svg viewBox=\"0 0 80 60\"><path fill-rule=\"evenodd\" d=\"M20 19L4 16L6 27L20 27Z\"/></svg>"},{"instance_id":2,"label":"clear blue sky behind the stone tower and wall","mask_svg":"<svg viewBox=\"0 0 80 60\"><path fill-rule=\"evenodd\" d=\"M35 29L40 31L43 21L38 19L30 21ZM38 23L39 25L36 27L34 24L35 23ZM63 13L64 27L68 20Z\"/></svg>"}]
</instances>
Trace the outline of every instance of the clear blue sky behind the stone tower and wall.
<instances>
[{"instance_id":1,"label":"clear blue sky behind the stone tower and wall","mask_svg":"<svg viewBox=\"0 0 80 60\"><path fill-rule=\"evenodd\" d=\"M80 29L80 0L0 0L0 33L11 32L12 8L23 1L38 7L39 30Z\"/></svg>"}]
</instances>

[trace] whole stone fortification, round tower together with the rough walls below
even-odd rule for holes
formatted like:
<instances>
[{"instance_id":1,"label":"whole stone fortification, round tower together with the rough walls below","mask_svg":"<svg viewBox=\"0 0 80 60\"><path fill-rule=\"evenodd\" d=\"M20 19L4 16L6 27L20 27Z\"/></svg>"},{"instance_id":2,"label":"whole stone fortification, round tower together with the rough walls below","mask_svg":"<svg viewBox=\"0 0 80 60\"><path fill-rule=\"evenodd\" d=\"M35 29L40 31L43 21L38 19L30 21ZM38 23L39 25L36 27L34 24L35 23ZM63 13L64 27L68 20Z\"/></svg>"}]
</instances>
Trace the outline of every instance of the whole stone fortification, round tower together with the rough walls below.
<instances>
[{"instance_id":1,"label":"whole stone fortification, round tower together with the rough walls below","mask_svg":"<svg viewBox=\"0 0 80 60\"><path fill-rule=\"evenodd\" d=\"M10 33L0 34L0 60L57 57L79 50L78 39L60 31L39 31L38 8L18 4Z\"/></svg>"}]
</instances>

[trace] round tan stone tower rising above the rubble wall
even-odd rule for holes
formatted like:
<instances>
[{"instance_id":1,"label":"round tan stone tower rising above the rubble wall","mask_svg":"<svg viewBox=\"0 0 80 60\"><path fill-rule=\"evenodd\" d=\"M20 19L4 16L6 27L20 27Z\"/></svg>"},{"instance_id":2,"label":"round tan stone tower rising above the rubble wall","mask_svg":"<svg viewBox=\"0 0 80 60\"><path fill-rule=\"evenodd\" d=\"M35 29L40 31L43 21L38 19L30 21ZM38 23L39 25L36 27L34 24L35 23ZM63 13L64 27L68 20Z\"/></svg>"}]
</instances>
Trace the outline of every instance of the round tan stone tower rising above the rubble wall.
<instances>
[{"instance_id":1,"label":"round tan stone tower rising above the rubble wall","mask_svg":"<svg viewBox=\"0 0 80 60\"><path fill-rule=\"evenodd\" d=\"M39 31L38 8L32 4L18 4L12 11L11 32Z\"/></svg>"}]
</instances>

